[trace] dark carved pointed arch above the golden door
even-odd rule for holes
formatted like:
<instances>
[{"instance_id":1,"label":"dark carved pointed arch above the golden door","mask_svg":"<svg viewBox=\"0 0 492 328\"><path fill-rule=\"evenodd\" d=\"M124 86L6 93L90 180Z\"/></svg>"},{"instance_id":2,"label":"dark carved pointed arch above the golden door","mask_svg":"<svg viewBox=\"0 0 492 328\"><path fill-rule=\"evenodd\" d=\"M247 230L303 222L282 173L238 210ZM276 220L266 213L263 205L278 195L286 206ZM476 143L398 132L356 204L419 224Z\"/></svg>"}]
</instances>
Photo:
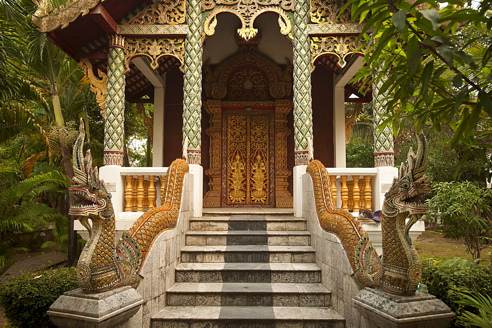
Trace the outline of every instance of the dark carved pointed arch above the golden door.
<instances>
[{"instance_id":1,"label":"dark carved pointed arch above the golden door","mask_svg":"<svg viewBox=\"0 0 492 328\"><path fill-rule=\"evenodd\" d=\"M265 86L266 92L263 93L266 94L263 96L263 100L290 96L293 65L286 59L287 65L282 70L274 60L261 54L256 49L259 38L260 36L256 35L251 40L252 42L248 43L238 36L236 39L240 49L236 54L222 61L215 70L212 70L208 62L204 65L204 88L209 99L226 100L226 97L230 97L231 87L234 88L238 85L235 80L241 79L241 76L246 80L247 77L256 79L258 84ZM227 100L242 99L231 98Z\"/></svg>"}]
</instances>

